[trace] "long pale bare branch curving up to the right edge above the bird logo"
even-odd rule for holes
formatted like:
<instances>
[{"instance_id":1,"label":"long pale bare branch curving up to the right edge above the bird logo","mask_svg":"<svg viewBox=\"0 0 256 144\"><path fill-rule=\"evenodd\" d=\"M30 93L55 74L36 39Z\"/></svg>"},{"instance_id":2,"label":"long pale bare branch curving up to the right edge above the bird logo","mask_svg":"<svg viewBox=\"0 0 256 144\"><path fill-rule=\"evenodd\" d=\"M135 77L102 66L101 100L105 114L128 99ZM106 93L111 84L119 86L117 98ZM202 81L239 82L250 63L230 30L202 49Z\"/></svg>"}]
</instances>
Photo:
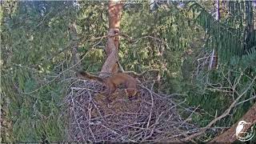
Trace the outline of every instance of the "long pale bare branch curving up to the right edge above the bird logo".
<instances>
[{"instance_id":1,"label":"long pale bare branch curving up to the right edge above the bird logo","mask_svg":"<svg viewBox=\"0 0 256 144\"><path fill-rule=\"evenodd\" d=\"M235 106L235 104L238 102L238 100L239 100L240 98L242 98L242 95L243 95L243 94L246 94L246 92L250 89L250 86L252 86L252 85L254 84L255 79L256 79L256 77L254 77L254 79L252 80L252 82L250 82L250 85L247 87L246 90L244 90L244 91L242 92L242 94L238 94L238 95L239 95L238 98L236 98L236 99L234 100L234 102L232 102L232 104L230 105L230 107L229 107L222 115L218 116L218 118L214 118L214 120L211 121L206 127L202 128L202 130L201 130L200 132L195 133L195 134L192 134L192 135L190 135L190 136L187 137L187 138L183 138L182 141L188 141L188 140L190 140L191 138L197 137L198 135L204 133L207 129L209 129L210 126L212 126L215 122L218 122L218 120L220 120L220 119L226 117L227 114L230 114L230 110Z\"/></svg>"}]
</instances>

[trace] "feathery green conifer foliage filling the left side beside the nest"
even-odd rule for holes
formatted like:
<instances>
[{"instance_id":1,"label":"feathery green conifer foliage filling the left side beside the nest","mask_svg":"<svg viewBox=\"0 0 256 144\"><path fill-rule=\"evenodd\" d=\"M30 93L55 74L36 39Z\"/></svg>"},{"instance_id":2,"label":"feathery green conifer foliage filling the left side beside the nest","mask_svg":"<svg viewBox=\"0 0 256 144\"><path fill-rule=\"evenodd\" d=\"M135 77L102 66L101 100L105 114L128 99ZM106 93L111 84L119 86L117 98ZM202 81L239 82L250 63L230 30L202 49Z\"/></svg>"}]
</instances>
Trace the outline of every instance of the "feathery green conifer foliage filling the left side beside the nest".
<instances>
[{"instance_id":1,"label":"feathery green conifer foliage filling the left side beside the nest","mask_svg":"<svg viewBox=\"0 0 256 144\"><path fill-rule=\"evenodd\" d=\"M17 2L16 2L17 3ZM69 42L68 25L74 10L68 2L18 2L1 26L2 103L13 123L16 142L42 142L65 137L60 114L66 84L54 81L69 62L58 54ZM45 9L44 9L45 7ZM55 56L58 54L58 57ZM4 139L4 138L3 138Z\"/></svg>"}]
</instances>

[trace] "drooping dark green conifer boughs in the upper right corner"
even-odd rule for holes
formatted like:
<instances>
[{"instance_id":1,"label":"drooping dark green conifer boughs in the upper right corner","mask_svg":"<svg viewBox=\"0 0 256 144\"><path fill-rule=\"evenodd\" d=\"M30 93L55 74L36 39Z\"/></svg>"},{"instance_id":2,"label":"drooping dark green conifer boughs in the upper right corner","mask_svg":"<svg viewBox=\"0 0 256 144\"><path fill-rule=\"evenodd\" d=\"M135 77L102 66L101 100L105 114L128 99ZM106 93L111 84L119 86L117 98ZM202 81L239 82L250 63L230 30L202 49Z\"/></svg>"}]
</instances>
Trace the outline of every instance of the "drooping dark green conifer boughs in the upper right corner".
<instances>
[{"instance_id":1,"label":"drooping dark green conifer boughs in the upper right corner","mask_svg":"<svg viewBox=\"0 0 256 144\"><path fill-rule=\"evenodd\" d=\"M230 62L234 56L242 57L255 50L256 39L253 29L253 7L251 1L226 2L230 16L215 20L203 6L197 2L189 3L195 21L202 26L210 39L206 48L218 50L219 62Z\"/></svg>"}]
</instances>

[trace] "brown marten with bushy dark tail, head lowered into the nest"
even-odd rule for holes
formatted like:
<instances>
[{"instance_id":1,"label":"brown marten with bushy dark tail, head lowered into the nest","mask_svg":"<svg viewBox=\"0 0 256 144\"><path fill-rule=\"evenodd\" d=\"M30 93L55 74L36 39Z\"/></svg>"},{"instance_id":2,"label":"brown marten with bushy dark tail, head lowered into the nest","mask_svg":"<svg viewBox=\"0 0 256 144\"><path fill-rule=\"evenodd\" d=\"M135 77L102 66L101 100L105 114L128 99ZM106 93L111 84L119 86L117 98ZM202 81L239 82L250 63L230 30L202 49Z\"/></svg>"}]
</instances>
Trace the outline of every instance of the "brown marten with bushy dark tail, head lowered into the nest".
<instances>
[{"instance_id":1,"label":"brown marten with bushy dark tail, head lowered into the nest","mask_svg":"<svg viewBox=\"0 0 256 144\"><path fill-rule=\"evenodd\" d=\"M98 76L92 75L87 73L86 71L78 71L77 76L80 78L89 78L94 79L98 82L102 82L106 85L106 91L104 94L107 94L110 96L110 94L113 94L114 91L118 88L119 85L123 84L126 87L126 94L129 98L133 97L135 94L137 94L137 79L131 77L128 74L124 73L116 73L110 75L110 77L107 78L100 78ZM107 98L108 101L110 101Z\"/></svg>"}]
</instances>

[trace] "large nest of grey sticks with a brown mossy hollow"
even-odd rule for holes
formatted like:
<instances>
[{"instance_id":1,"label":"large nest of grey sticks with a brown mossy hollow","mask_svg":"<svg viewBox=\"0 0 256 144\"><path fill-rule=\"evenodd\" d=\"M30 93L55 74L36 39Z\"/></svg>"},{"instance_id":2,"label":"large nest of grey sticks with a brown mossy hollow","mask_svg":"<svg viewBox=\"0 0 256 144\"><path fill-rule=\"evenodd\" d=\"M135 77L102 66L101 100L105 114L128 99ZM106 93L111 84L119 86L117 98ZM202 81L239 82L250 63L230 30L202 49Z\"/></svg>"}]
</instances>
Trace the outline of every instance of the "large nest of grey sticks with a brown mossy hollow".
<instances>
[{"instance_id":1,"label":"large nest of grey sticks with a brown mossy hollow","mask_svg":"<svg viewBox=\"0 0 256 144\"><path fill-rule=\"evenodd\" d=\"M69 140L75 142L178 142L194 133L183 121L171 96L140 86L134 98L120 88L101 94L102 83L78 80L66 96Z\"/></svg>"}]
</instances>

